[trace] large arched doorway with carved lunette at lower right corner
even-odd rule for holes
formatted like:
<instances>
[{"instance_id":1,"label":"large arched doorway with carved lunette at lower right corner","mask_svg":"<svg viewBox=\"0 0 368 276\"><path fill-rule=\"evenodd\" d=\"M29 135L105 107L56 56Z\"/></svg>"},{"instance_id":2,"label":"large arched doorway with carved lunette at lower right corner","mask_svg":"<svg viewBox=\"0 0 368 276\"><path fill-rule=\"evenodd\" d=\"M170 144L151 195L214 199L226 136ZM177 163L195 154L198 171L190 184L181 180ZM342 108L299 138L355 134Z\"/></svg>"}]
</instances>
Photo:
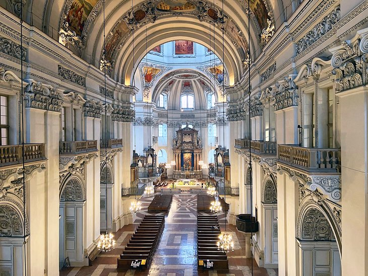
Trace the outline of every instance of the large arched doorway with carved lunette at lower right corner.
<instances>
[{"instance_id":1,"label":"large arched doorway with carved lunette at lower right corner","mask_svg":"<svg viewBox=\"0 0 368 276\"><path fill-rule=\"evenodd\" d=\"M341 258L329 220L317 206L300 214L299 237L300 275L341 275Z\"/></svg>"}]
</instances>

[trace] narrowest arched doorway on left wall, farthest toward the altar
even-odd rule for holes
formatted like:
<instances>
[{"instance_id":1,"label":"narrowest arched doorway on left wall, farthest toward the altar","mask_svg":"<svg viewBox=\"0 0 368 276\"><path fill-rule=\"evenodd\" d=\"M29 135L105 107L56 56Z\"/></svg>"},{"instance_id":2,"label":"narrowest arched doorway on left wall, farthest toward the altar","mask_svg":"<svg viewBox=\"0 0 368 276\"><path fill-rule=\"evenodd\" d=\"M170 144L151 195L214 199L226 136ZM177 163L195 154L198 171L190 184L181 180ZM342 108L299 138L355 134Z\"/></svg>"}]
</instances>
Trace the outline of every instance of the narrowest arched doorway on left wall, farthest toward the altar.
<instances>
[{"instance_id":1,"label":"narrowest arched doorway on left wall, farthest toward the altar","mask_svg":"<svg viewBox=\"0 0 368 276\"><path fill-rule=\"evenodd\" d=\"M113 187L112 168L110 164L104 164L100 175L100 227L101 231L112 229L112 187ZM107 188L107 189L106 189ZM106 202L108 204L106 204ZM106 215L107 213L107 215ZM106 221L107 218L107 221Z\"/></svg>"}]
</instances>

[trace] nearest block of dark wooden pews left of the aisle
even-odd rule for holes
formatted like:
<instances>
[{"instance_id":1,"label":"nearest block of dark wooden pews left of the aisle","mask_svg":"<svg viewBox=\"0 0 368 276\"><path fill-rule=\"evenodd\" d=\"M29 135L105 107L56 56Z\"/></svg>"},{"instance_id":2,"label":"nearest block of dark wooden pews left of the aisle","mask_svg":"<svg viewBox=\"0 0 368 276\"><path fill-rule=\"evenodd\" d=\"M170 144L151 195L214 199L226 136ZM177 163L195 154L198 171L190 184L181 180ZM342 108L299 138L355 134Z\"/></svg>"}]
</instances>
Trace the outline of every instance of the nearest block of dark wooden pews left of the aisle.
<instances>
[{"instance_id":1,"label":"nearest block of dark wooden pews left of the aisle","mask_svg":"<svg viewBox=\"0 0 368 276\"><path fill-rule=\"evenodd\" d=\"M165 216L146 215L117 259L117 271L147 269L165 225Z\"/></svg>"}]
</instances>

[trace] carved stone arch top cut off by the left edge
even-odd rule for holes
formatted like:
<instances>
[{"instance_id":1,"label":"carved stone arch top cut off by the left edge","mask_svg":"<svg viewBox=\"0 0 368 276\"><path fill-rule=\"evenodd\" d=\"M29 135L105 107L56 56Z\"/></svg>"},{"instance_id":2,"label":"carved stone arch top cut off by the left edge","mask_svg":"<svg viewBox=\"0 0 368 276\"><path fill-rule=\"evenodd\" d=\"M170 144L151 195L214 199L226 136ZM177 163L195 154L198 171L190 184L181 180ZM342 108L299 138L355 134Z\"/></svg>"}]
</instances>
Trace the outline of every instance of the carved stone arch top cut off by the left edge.
<instances>
[{"instance_id":1,"label":"carved stone arch top cut off by the left edge","mask_svg":"<svg viewBox=\"0 0 368 276\"><path fill-rule=\"evenodd\" d=\"M26 216L26 235L27 234L29 234L29 228ZM21 207L21 204L16 204L16 202L11 202L8 200L1 202L0 237L23 237L23 236L24 236L24 220L23 220L23 208Z\"/></svg>"}]
</instances>

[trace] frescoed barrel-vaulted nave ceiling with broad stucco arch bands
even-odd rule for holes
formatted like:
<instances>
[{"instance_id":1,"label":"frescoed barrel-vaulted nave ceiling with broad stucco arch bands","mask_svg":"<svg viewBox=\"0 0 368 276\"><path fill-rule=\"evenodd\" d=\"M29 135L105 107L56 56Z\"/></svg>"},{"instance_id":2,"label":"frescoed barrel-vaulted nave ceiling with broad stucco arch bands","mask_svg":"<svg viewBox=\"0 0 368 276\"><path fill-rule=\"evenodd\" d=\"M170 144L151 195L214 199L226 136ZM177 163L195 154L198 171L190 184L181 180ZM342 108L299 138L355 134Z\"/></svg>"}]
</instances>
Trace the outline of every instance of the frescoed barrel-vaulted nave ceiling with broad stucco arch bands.
<instances>
[{"instance_id":1,"label":"frescoed barrel-vaulted nave ceiling with broad stucco arch bands","mask_svg":"<svg viewBox=\"0 0 368 276\"><path fill-rule=\"evenodd\" d=\"M222 2L218 0L105 0L106 54L103 56L103 0L22 1L23 19L27 23L87 62L105 66L113 79L126 85L132 84L133 68L144 57L146 43L152 48L172 40L191 40L213 49L223 59L231 86L246 69L249 40L251 55L257 56L273 35L275 25L278 27L283 21L284 13L282 0L250 0L249 39L248 0L224 0L223 13ZM19 2L0 0L0 5L20 16Z\"/></svg>"}]
</instances>

